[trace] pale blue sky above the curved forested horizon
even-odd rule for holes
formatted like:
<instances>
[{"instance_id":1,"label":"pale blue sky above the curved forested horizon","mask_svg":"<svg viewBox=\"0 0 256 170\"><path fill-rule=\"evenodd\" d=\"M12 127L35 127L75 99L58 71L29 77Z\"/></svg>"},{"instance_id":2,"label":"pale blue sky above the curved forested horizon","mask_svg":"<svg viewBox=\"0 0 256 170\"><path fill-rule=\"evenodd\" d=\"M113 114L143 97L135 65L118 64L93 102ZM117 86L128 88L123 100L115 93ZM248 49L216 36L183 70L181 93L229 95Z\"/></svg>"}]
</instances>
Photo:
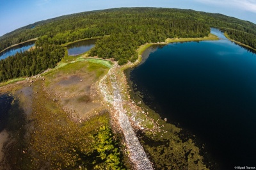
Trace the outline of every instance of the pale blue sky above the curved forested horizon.
<instances>
[{"instance_id":1,"label":"pale blue sky above the curved forested horizon","mask_svg":"<svg viewBox=\"0 0 256 170\"><path fill-rule=\"evenodd\" d=\"M256 0L0 0L0 36L19 27L61 15L135 6L222 13L256 24Z\"/></svg>"}]
</instances>

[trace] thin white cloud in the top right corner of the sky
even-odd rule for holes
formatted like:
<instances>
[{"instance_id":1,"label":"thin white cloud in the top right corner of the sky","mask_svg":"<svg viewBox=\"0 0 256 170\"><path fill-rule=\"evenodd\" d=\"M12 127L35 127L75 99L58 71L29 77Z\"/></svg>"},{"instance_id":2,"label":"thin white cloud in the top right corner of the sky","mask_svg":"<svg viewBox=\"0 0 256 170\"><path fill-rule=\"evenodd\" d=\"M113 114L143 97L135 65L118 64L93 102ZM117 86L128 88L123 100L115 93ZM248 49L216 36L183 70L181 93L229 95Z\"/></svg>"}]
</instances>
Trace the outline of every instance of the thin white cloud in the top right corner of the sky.
<instances>
[{"instance_id":1,"label":"thin white cloud in the top right corner of the sky","mask_svg":"<svg viewBox=\"0 0 256 170\"><path fill-rule=\"evenodd\" d=\"M234 10L244 10L256 13L256 0L195 0L199 3L214 4L224 8L234 8Z\"/></svg>"}]
</instances>

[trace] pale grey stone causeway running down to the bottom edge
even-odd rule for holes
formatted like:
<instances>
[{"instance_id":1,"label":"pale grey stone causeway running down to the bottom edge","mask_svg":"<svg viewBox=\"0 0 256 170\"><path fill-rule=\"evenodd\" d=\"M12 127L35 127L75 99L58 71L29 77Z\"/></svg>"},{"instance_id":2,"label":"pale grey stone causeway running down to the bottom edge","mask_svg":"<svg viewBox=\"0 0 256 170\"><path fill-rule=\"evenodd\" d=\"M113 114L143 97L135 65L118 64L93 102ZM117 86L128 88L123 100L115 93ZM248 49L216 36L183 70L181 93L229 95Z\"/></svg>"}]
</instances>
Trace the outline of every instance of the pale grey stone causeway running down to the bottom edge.
<instances>
[{"instance_id":1,"label":"pale grey stone causeway running down to the bottom edge","mask_svg":"<svg viewBox=\"0 0 256 170\"><path fill-rule=\"evenodd\" d=\"M128 116L125 114L127 111L125 111L123 107L124 101L115 77L116 69L118 69L117 65L114 65L113 68L109 70L108 75L102 78L99 83L100 91L102 92L104 100L113 105L115 109L115 116L117 117L116 123L118 123L120 131L124 135L125 146L127 146L129 158L134 165L134 169L153 169L147 154L132 129ZM110 88L109 85L111 85Z\"/></svg>"}]
</instances>

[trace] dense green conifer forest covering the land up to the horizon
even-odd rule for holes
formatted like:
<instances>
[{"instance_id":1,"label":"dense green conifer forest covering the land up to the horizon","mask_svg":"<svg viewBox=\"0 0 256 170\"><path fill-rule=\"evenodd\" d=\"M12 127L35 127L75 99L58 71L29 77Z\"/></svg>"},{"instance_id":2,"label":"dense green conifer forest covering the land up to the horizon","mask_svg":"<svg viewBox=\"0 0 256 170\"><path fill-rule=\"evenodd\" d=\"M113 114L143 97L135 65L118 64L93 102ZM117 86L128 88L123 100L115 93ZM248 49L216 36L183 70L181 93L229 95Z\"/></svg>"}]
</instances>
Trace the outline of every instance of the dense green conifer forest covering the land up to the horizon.
<instances>
[{"instance_id":1,"label":"dense green conifer forest covering the land up to the horizon","mask_svg":"<svg viewBox=\"0 0 256 170\"><path fill-rule=\"evenodd\" d=\"M233 17L216 13L196 12L193 10L179 10L169 8L115 8L93 12L65 15L55 19L36 22L22 27L0 37L0 51L15 43L24 42L38 37L36 49L47 44L49 47L58 47L67 42L74 42L83 38L103 36L91 50L91 56L100 58L114 58L120 65L127 61L135 61L138 57L136 49L144 43L163 42L166 38L203 37L210 33L210 27L220 27L227 31L230 38L249 45L256 49L256 25L252 22L239 20ZM55 50L55 49L48 50ZM40 49L40 48L39 48ZM45 48L44 48L45 49ZM58 49L58 48L57 48ZM59 49L58 49L59 50ZM34 58L44 58L41 54L33 54ZM51 52L48 52L51 54ZM61 54L60 52L55 52ZM22 54L29 56L30 54ZM21 56L22 56L21 55ZM40 57L39 57L40 56ZM51 58L51 55L48 56ZM20 57L19 54L15 57ZM58 56L61 58L61 56ZM1 63L11 65L13 59L6 59ZM36 60L36 59L34 59ZM41 59L40 61L43 61ZM56 60L56 59L50 59ZM20 62L20 61L19 61ZM34 63L33 65L40 65ZM10 66L0 68L0 81L17 76L34 75L42 69L31 69L13 73ZM19 64L15 64L20 69ZM32 63L26 63L30 68ZM48 65L50 66L50 65ZM35 67L35 66L34 66ZM34 72L33 72L34 70ZM40 71L39 71L40 70ZM3 72L10 72L3 75ZM13 75L13 76L10 76Z\"/></svg>"}]
</instances>

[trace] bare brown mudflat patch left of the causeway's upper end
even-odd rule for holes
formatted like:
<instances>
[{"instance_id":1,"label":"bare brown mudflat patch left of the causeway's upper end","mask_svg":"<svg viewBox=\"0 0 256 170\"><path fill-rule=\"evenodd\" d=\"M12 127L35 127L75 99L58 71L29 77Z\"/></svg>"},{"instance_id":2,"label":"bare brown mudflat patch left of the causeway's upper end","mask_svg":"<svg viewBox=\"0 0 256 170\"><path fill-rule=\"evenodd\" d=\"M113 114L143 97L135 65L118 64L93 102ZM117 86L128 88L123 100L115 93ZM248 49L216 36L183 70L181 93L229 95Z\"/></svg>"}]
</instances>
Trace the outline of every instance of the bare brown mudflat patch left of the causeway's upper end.
<instances>
[{"instance_id":1,"label":"bare brown mudflat patch left of the causeway's upper end","mask_svg":"<svg viewBox=\"0 0 256 170\"><path fill-rule=\"evenodd\" d=\"M45 81L47 79L51 82L44 86L44 91L72 114L74 120L88 119L93 116L93 111L103 107L95 85L95 72L80 69L74 73L55 73L45 77Z\"/></svg>"}]
</instances>

